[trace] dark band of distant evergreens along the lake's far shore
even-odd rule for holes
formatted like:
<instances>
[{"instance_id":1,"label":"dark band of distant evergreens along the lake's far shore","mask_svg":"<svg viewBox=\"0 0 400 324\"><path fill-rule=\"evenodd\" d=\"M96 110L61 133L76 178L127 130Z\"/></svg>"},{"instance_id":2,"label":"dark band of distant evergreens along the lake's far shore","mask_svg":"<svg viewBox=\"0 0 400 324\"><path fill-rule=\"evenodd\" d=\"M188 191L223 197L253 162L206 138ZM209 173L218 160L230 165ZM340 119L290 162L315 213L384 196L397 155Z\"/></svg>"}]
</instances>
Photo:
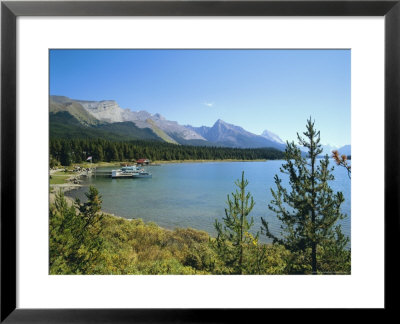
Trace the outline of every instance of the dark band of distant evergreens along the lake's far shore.
<instances>
[{"instance_id":1,"label":"dark band of distant evergreens along the lake's far shore","mask_svg":"<svg viewBox=\"0 0 400 324\"><path fill-rule=\"evenodd\" d=\"M188 146L158 141L115 142L103 139L50 139L50 162L68 166L92 156L93 162L130 161L141 158L171 160L257 160L283 159L284 152L274 148L239 149Z\"/></svg>"}]
</instances>

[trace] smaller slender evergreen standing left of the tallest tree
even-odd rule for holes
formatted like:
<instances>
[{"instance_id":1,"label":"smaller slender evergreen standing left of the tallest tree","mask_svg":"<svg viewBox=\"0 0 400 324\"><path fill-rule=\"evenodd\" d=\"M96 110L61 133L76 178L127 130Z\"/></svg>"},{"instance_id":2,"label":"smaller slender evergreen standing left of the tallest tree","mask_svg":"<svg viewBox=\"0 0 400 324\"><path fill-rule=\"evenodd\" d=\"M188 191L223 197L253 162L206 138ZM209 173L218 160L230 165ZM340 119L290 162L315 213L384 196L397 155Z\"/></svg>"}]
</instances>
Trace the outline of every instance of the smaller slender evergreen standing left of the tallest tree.
<instances>
[{"instance_id":1,"label":"smaller slender evergreen standing left of the tallest tree","mask_svg":"<svg viewBox=\"0 0 400 324\"><path fill-rule=\"evenodd\" d=\"M249 221L248 216L254 207L254 200L250 192L246 193L246 187L249 184L244 179L235 181L238 189L228 195L228 208L225 208L224 226L218 220L215 220L215 229L217 238L214 244L219 257L224 261L228 272L243 274L246 267L249 267L248 260L245 260L246 252L252 244L257 244L258 234L253 237L249 233L253 226L253 218Z\"/></svg>"}]
</instances>

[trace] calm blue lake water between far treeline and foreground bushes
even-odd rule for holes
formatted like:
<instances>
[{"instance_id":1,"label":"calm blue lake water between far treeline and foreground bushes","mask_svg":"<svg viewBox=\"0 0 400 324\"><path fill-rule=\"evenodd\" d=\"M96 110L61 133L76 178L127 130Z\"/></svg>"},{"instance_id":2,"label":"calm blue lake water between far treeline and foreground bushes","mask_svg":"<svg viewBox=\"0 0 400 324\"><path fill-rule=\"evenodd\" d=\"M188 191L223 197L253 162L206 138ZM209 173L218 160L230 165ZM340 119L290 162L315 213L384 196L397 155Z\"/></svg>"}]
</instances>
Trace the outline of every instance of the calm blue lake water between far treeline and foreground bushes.
<instances>
[{"instance_id":1,"label":"calm blue lake water between far treeline and foreground bushes","mask_svg":"<svg viewBox=\"0 0 400 324\"><path fill-rule=\"evenodd\" d=\"M214 236L214 221L222 221L227 195L236 189L234 181L239 179L244 171L245 178L249 181L247 190L251 192L255 201L250 214L254 218L253 232L260 230L263 217L269 222L270 229L278 233L280 223L268 209L268 203L272 199L270 188L276 188L275 174L287 184L287 178L279 172L283 162L163 164L145 167L153 174L152 178L91 177L85 184L97 187L103 197L102 209L105 212L129 219L142 218L168 229L192 227ZM351 181L342 167L335 167L333 174L335 180L330 183L332 189L335 192L343 192L345 197L342 212L347 214L347 218L341 221L342 231L350 237ZM83 199L85 191L87 188L83 187L71 191L68 195ZM269 242L269 239L260 236L260 241Z\"/></svg>"}]
</instances>

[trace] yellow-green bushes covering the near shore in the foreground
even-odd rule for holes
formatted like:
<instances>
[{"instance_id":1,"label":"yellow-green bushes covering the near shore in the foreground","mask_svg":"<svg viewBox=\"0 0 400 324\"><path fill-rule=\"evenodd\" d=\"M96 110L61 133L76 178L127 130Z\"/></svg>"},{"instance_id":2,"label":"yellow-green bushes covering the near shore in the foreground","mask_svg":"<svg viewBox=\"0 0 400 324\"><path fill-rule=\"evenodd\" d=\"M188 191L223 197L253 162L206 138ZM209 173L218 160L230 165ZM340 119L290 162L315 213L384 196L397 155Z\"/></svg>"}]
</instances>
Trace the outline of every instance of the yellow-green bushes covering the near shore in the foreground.
<instances>
[{"instance_id":1,"label":"yellow-green bushes covering the near shore in the foreground","mask_svg":"<svg viewBox=\"0 0 400 324\"><path fill-rule=\"evenodd\" d=\"M50 274L232 274L237 269L227 265L226 257L215 250L217 240L206 232L171 231L141 219L104 214L95 188L89 189L87 198L86 203L70 206L59 192L50 206ZM346 253L340 269L332 269L329 258L338 260L334 249L325 246L318 253L321 269L348 273ZM283 245L249 241L243 252L242 273L296 273L297 255Z\"/></svg>"}]
</instances>

